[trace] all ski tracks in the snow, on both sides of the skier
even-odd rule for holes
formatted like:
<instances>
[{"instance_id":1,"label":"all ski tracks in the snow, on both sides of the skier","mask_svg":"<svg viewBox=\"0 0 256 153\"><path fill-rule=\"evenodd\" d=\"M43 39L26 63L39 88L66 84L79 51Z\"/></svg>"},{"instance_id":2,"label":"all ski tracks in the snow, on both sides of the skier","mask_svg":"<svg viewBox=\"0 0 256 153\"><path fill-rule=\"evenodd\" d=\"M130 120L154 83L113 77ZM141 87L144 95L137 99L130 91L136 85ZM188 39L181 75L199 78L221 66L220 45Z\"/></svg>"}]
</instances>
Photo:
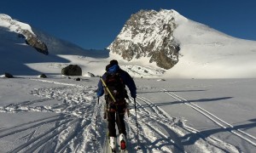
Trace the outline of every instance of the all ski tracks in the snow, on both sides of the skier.
<instances>
[{"instance_id":1,"label":"all ski tracks in the snow, on both sides of the skier","mask_svg":"<svg viewBox=\"0 0 256 153\"><path fill-rule=\"evenodd\" d=\"M0 129L0 139L15 137L15 147L9 152L103 152L107 142L107 122L103 119L104 99L96 105L96 87L30 79L31 81L54 83L54 88L34 88L30 94L44 99L25 101L0 107L0 112L50 112L54 116L35 122L27 122L15 127ZM256 139L241 130L231 129L231 125L198 105L163 90L174 99L182 101L196 111L216 122L219 126L230 127L230 132L248 142ZM47 100L60 103L44 105ZM131 97L130 97L131 101ZM36 105L36 106L34 106ZM130 103L130 117L127 122L127 150L129 152L238 152L230 144L212 136L201 138L197 130L185 126L182 121L169 116L149 99L137 96L137 124L135 109ZM97 116L97 127L96 127ZM95 128L96 127L96 128ZM138 130L138 137L137 137ZM96 133L96 137L95 137ZM195 144L189 144L187 135L197 137ZM96 139L96 141L93 141ZM254 143L253 143L254 144ZM135 150L137 146L141 150Z\"/></svg>"}]
</instances>

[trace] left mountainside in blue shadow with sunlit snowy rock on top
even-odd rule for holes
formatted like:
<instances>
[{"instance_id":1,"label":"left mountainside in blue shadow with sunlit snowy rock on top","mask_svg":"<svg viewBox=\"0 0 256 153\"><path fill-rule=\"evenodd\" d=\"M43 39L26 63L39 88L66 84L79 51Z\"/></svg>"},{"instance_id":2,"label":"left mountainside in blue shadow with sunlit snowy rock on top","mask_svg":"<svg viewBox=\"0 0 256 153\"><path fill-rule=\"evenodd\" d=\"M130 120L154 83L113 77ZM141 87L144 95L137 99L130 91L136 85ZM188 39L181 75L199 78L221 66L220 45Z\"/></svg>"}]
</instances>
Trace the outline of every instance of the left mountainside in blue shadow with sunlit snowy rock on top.
<instances>
[{"instance_id":1,"label":"left mountainside in blue shadow with sunlit snowy rock on top","mask_svg":"<svg viewBox=\"0 0 256 153\"><path fill-rule=\"evenodd\" d=\"M70 59L61 55L79 55L90 58L108 58L108 51L80 48L72 42L53 37L43 31L7 14L0 14L0 74L35 75L61 73L61 68L70 63ZM31 41L33 38L33 41ZM29 44L29 42L35 42ZM38 48L43 44L44 49ZM38 50L38 53L35 48ZM47 54L45 56L44 54ZM81 58L80 58L81 59ZM77 64L74 61L72 64Z\"/></svg>"}]
</instances>

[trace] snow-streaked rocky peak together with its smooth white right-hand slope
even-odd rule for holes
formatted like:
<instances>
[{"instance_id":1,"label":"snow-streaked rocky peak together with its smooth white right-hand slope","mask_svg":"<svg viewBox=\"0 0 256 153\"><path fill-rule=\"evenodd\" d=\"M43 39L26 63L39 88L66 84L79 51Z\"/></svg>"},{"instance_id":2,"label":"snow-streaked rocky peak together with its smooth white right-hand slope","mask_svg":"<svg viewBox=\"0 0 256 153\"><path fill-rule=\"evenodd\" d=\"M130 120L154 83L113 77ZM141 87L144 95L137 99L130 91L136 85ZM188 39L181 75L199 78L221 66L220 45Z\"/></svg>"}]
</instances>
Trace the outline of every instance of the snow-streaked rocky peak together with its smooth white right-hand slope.
<instances>
[{"instance_id":1,"label":"snow-streaked rocky peak together with its smooth white right-hand slope","mask_svg":"<svg viewBox=\"0 0 256 153\"><path fill-rule=\"evenodd\" d=\"M230 37L175 10L141 10L131 14L108 48L128 61L149 59L148 63L170 69L167 72L171 76L210 77L219 71L223 72L220 77L232 77L236 76L235 70L246 73L244 76L256 76L252 70L245 70L256 59L255 41ZM227 69L232 74L227 75Z\"/></svg>"}]
</instances>

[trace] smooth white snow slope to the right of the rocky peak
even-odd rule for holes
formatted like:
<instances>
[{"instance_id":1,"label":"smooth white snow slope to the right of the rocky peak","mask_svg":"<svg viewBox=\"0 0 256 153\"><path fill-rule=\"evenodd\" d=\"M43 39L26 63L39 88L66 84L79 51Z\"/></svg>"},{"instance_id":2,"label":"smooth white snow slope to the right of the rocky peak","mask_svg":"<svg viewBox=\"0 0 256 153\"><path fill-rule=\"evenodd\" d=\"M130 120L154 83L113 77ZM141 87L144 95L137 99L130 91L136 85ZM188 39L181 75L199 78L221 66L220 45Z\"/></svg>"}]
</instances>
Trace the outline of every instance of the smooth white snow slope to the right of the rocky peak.
<instances>
[{"instance_id":1,"label":"smooth white snow slope to the right of the rocky peak","mask_svg":"<svg viewBox=\"0 0 256 153\"><path fill-rule=\"evenodd\" d=\"M170 75L256 77L255 41L230 37L192 20L178 20L177 24L174 37L181 42L180 58Z\"/></svg>"}]
</instances>

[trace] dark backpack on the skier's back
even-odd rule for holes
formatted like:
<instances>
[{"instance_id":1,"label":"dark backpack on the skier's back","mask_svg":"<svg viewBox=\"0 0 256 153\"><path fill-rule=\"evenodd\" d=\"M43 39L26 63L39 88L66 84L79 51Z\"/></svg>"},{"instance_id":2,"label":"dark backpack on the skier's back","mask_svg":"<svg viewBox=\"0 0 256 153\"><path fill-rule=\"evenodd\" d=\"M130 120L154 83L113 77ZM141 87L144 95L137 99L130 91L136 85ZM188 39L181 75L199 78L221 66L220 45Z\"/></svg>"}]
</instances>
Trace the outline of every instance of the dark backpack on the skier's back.
<instances>
[{"instance_id":1,"label":"dark backpack on the skier's back","mask_svg":"<svg viewBox=\"0 0 256 153\"><path fill-rule=\"evenodd\" d=\"M119 71L110 74L107 72L106 76L106 85L110 91L110 93L113 95L113 98L115 99L116 103L124 103L125 98L128 98L127 91L125 89L125 83L123 82ZM113 102L113 99L108 94L108 91L105 90L105 95L107 95L106 100L108 102Z\"/></svg>"}]
</instances>

